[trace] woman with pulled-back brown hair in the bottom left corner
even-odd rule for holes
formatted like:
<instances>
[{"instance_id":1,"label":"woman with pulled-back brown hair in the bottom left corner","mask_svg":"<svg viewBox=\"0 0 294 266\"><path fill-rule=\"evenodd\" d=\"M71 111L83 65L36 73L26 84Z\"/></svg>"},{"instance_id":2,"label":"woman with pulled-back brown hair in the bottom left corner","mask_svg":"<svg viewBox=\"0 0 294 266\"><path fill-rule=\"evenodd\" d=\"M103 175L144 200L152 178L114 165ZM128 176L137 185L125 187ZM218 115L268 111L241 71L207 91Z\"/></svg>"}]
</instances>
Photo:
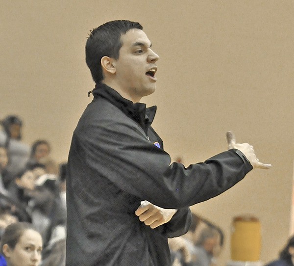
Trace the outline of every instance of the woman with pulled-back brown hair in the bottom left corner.
<instances>
[{"instance_id":1,"label":"woman with pulled-back brown hair in the bottom left corner","mask_svg":"<svg viewBox=\"0 0 294 266\"><path fill-rule=\"evenodd\" d=\"M6 227L0 251L7 266L39 266L42 258L42 237L29 223L13 223ZM6 265L3 259L0 263ZM0 264L1 265L1 264Z\"/></svg>"}]
</instances>

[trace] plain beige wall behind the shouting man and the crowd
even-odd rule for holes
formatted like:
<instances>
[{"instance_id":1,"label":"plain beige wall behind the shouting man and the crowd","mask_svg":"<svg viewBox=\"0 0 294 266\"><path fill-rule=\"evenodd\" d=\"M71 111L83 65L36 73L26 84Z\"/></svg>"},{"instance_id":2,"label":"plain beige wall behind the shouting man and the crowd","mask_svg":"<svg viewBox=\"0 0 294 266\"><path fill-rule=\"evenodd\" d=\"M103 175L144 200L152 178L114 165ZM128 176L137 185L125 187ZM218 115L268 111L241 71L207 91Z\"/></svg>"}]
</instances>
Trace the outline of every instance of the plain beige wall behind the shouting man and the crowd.
<instances>
[{"instance_id":1,"label":"plain beige wall behind the shouting man and the crowd","mask_svg":"<svg viewBox=\"0 0 294 266\"><path fill-rule=\"evenodd\" d=\"M186 165L226 149L225 132L254 145L269 171L255 170L221 196L193 207L225 232L232 218L262 223L261 260L288 238L294 157L294 1L0 0L0 118L19 114L24 141L48 139L67 158L94 86L84 63L89 29L139 21L160 55L154 127Z\"/></svg>"}]
</instances>

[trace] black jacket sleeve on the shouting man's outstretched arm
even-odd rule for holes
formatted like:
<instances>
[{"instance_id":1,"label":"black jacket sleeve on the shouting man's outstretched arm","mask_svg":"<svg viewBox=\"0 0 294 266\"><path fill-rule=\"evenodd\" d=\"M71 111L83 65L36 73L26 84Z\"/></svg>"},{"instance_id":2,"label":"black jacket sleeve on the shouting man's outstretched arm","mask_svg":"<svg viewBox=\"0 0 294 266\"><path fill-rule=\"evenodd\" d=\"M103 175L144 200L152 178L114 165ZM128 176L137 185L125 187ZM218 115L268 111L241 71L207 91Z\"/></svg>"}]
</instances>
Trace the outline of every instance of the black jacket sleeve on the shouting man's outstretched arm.
<instances>
[{"instance_id":1,"label":"black jacket sleeve on the shouting man's outstretched arm","mask_svg":"<svg viewBox=\"0 0 294 266\"><path fill-rule=\"evenodd\" d=\"M150 143L135 122L99 120L74 132L77 156L95 175L126 193L165 209L181 209L208 200L234 186L252 169L236 150L186 168ZM240 153L240 151L239 151Z\"/></svg>"}]
</instances>

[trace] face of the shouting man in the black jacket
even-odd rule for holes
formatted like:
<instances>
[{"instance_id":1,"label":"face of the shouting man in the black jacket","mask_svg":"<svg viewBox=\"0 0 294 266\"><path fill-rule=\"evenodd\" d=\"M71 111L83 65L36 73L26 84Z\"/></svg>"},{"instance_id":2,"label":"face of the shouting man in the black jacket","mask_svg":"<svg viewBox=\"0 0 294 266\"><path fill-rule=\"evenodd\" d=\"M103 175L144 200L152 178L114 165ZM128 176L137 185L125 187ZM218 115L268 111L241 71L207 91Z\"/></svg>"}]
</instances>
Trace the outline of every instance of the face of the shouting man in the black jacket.
<instances>
[{"instance_id":1,"label":"face of the shouting man in the black jacket","mask_svg":"<svg viewBox=\"0 0 294 266\"><path fill-rule=\"evenodd\" d=\"M114 82L127 99L138 102L155 91L156 61L151 42L141 29L130 29L121 36L119 59L115 60Z\"/></svg>"}]
</instances>

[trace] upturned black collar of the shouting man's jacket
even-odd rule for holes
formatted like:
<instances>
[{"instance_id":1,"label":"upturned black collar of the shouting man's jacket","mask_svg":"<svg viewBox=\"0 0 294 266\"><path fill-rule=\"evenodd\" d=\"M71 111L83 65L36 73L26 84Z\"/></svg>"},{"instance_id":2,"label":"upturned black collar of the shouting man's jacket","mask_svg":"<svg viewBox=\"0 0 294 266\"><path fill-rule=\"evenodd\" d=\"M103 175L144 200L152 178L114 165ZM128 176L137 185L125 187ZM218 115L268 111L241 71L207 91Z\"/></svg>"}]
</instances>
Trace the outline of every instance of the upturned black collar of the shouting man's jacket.
<instances>
[{"instance_id":1,"label":"upturned black collar of the shouting man's jacket","mask_svg":"<svg viewBox=\"0 0 294 266\"><path fill-rule=\"evenodd\" d=\"M90 93L90 92L89 92ZM133 103L130 100L123 98L116 90L107 86L104 83L98 83L93 90L94 100L98 97L103 97L114 106L118 107L128 117L136 121L147 133L147 130L153 122L156 106L146 108L146 104Z\"/></svg>"}]
</instances>

